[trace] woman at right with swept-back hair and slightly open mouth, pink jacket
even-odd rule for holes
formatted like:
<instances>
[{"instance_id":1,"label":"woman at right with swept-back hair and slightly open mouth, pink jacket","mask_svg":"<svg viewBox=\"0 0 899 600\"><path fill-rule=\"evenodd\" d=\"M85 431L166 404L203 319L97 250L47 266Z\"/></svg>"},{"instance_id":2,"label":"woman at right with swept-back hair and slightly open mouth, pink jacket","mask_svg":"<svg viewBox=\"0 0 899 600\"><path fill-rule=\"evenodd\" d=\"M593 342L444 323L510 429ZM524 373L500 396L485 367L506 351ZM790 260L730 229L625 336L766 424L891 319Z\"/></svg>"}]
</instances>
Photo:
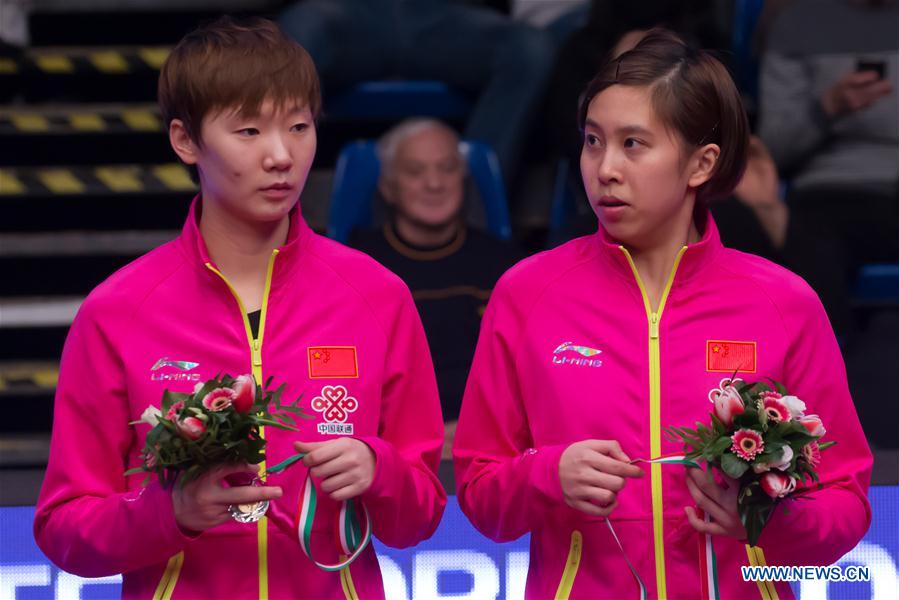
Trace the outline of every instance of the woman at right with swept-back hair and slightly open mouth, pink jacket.
<instances>
[{"instance_id":1,"label":"woman at right with swept-back hair and slightly open mouth, pink jacket","mask_svg":"<svg viewBox=\"0 0 899 600\"><path fill-rule=\"evenodd\" d=\"M650 597L700 596L706 533L722 597L791 597L739 567L829 564L854 547L870 521L871 454L818 298L724 248L709 217L746 162L738 92L718 61L657 31L602 68L580 124L599 230L519 263L494 290L456 433L462 509L494 540L531 534L529 598L638 597L605 519ZM735 486L631 464L682 452L662 429L708 422L710 390L736 370L783 382L839 443L813 500L786 501L752 549Z\"/></svg>"}]
</instances>

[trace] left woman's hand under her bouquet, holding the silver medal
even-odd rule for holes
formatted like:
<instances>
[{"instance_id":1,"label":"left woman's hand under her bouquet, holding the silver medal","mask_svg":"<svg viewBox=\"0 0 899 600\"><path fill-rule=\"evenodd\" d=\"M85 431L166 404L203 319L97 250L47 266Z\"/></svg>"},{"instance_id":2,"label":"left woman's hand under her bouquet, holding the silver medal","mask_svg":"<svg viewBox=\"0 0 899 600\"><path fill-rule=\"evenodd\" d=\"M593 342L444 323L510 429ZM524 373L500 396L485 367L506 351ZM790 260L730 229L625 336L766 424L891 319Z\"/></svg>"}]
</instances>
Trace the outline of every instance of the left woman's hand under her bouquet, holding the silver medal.
<instances>
[{"instance_id":1,"label":"left woman's hand under her bouquet, holding the silver medal","mask_svg":"<svg viewBox=\"0 0 899 600\"><path fill-rule=\"evenodd\" d=\"M183 487L175 483L172 507L178 526L186 534L196 535L230 521L231 505L280 498L282 491L278 486L229 486L226 482L229 477L255 477L258 471L258 465L227 465L212 469Z\"/></svg>"}]
</instances>

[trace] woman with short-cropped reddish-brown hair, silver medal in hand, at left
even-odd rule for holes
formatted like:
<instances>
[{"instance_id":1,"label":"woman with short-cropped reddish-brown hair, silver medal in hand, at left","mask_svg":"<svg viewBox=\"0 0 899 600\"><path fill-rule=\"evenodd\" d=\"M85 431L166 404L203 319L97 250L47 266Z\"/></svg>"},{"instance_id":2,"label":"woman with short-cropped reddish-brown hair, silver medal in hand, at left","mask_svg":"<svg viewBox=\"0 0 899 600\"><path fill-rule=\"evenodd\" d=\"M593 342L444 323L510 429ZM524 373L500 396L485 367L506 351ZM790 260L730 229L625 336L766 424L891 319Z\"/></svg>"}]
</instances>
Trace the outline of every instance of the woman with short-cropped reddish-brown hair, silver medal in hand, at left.
<instances>
[{"instance_id":1,"label":"woman with short-cropped reddish-brown hair, silver medal in hand, at left","mask_svg":"<svg viewBox=\"0 0 899 600\"><path fill-rule=\"evenodd\" d=\"M371 546L338 572L304 556L293 530L302 483L308 469L320 489L317 560L340 560L348 498L384 543L416 544L446 501L436 476L443 424L408 289L300 214L316 148L315 67L273 23L223 19L173 50L159 91L200 193L181 235L97 287L72 324L38 545L78 575L123 573L126 598L383 597ZM265 464L300 450L305 466L264 487L223 486L254 471L246 465L172 489L126 478L149 430L129 422L163 390L191 392L220 372L272 377L285 399L302 396L313 418L299 433L267 430ZM260 500L273 502L258 523L229 516L229 505Z\"/></svg>"}]
</instances>

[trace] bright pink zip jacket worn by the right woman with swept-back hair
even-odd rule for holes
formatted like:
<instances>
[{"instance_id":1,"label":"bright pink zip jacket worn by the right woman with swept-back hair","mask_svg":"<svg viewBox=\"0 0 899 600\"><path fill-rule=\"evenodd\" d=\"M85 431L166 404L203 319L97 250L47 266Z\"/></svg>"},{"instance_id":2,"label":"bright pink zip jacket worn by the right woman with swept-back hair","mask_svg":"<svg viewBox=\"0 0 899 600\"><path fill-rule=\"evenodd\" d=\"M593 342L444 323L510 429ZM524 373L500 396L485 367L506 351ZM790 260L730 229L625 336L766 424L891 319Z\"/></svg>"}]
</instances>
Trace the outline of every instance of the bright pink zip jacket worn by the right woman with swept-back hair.
<instances>
[{"instance_id":1,"label":"bright pink zip jacket worn by the right woman with swept-back hair","mask_svg":"<svg viewBox=\"0 0 899 600\"><path fill-rule=\"evenodd\" d=\"M630 256L602 228L522 261L494 289L456 431L456 483L488 537L530 532L528 598L638 597L606 524L565 504L559 459L585 439L618 440L632 459L683 452L661 428L709 422L709 391L737 366L746 381L784 383L838 445L823 453L823 489L777 509L761 552L714 538L721 597L792 597L786 583L762 592L743 582L739 567L830 564L868 528L871 453L808 285L723 247L709 218L664 294L653 313ZM700 596L704 536L684 514L694 505L684 469L647 466L610 517L650 597Z\"/></svg>"}]
</instances>

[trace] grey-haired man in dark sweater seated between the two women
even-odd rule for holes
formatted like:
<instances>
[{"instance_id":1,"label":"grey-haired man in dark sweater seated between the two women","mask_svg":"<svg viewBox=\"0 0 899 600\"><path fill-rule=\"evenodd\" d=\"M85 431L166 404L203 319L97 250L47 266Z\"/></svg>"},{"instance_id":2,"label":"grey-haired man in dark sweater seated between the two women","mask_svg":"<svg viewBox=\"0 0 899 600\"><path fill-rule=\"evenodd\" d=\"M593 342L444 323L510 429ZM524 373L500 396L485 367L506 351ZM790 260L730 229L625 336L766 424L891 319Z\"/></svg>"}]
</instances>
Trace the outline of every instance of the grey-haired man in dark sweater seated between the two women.
<instances>
[{"instance_id":1,"label":"grey-haired man in dark sweater seated between the two women","mask_svg":"<svg viewBox=\"0 0 899 600\"><path fill-rule=\"evenodd\" d=\"M378 189L390 216L380 230L354 232L350 245L412 290L437 372L449 458L481 315L496 280L521 256L466 225L465 160L452 129L431 119L404 121L380 140L378 157Z\"/></svg>"}]
</instances>

